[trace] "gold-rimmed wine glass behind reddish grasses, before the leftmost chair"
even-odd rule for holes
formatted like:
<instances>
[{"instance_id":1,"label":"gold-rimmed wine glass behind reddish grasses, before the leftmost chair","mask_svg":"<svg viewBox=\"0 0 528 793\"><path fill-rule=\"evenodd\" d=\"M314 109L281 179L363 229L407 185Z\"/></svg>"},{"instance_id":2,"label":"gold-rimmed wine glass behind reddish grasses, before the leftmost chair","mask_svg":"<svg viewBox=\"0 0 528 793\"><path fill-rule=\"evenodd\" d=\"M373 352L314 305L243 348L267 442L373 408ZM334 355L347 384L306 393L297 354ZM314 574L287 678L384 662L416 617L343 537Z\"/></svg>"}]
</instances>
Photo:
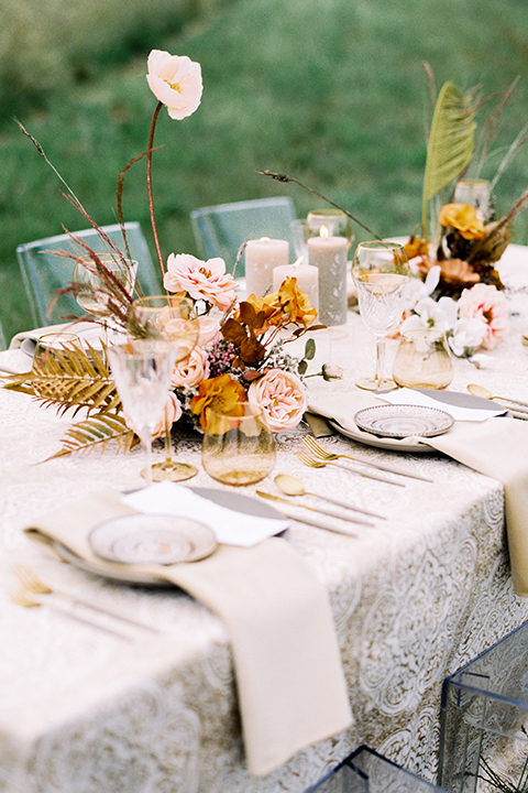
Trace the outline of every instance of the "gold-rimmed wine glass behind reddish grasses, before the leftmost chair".
<instances>
[{"instance_id":1,"label":"gold-rimmed wine glass behind reddish grasses, before the leftmost chair","mask_svg":"<svg viewBox=\"0 0 528 793\"><path fill-rule=\"evenodd\" d=\"M76 261L72 276L75 300L84 311L102 319L106 345L111 305L119 305L125 295L132 294L136 273L136 261L111 253L80 257Z\"/></svg>"}]
</instances>

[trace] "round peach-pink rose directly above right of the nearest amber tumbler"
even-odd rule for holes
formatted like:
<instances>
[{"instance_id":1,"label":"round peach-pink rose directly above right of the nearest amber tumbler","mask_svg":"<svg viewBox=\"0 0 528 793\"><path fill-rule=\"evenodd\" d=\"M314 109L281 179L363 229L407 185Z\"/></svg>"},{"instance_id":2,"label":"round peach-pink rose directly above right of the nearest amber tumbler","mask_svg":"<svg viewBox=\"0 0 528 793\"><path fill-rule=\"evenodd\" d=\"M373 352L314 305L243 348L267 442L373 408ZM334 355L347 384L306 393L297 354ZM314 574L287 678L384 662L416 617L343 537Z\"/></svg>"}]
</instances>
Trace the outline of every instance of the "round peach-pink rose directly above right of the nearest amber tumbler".
<instances>
[{"instance_id":1,"label":"round peach-pink rose directly above right of the nearest amber tumbler","mask_svg":"<svg viewBox=\"0 0 528 793\"><path fill-rule=\"evenodd\" d=\"M283 369L270 369L248 390L248 402L260 408L272 432L297 426L306 410L305 387L299 378Z\"/></svg>"}]
</instances>

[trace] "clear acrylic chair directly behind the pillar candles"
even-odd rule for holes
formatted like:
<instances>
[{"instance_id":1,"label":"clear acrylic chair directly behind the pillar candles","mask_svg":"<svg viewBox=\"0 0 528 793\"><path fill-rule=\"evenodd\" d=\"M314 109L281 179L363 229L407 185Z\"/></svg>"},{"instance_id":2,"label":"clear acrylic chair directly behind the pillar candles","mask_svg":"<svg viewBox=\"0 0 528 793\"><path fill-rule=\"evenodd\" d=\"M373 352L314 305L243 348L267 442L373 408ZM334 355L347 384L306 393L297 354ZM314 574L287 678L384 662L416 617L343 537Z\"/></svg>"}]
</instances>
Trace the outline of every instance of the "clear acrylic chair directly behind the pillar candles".
<instances>
[{"instance_id":1,"label":"clear acrylic chair directly behind the pillar candles","mask_svg":"<svg viewBox=\"0 0 528 793\"><path fill-rule=\"evenodd\" d=\"M190 213L193 233L200 259L221 257L228 272L233 272L240 246L249 238L271 237L289 242L290 260L294 239L289 224L296 219L294 202L287 196L256 198L234 204L194 209ZM234 272L244 275L243 257Z\"/></svg>"}]
</instances>

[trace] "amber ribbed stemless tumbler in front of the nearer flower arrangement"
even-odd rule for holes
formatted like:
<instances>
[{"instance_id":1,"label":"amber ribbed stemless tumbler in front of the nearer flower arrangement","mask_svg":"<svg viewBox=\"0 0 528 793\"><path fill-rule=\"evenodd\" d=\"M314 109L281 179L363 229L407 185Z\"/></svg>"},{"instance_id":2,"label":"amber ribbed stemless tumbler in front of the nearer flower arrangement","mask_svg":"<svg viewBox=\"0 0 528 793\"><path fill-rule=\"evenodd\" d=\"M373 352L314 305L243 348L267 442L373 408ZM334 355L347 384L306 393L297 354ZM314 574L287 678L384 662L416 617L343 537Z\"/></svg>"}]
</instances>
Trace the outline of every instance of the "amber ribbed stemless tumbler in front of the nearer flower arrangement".
<instances>
[{"instance_id":1,"label":"amber ribbed stemless tumbler in front of the nearer flower arrangement","mask_svg":"<svg viewBox=\"0 0 528 793\"><path fill-rule=\"evenodd\" d=\"M275 438L262 412L242 402L240 415L209 410L201 446L206 471L226 485L253 485L275 465Z\"/></svg>"}]
</instances>

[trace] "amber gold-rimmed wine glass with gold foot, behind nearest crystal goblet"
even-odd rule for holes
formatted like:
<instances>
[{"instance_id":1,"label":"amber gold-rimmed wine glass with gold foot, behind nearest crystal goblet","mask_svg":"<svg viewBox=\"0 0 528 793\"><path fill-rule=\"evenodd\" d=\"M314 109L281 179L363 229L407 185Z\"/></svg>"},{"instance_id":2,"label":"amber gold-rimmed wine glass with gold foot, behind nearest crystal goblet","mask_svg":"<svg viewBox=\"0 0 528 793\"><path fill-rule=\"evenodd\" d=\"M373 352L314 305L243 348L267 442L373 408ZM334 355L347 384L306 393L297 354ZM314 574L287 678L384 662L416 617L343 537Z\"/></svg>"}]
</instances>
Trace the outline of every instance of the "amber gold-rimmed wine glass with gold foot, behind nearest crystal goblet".
<instances>
[{"instance_id":1,"label":"amber gold-rimmed wine glass with gold foot, behind nearest crystal goblet","mask_svg":"<svg viewBox=\"0 0 528 793\"><path fill-rule=\"evenodd\" d=\"M131 306L128 333L131 338L164 339L173 345L175 365L189 357L199 334L198 317L193 301L178 295L139 297ZM198 474L188 463L173 460L172 425L165 410L165 460L153 466L155 481L184 481Z\"/></svg>"}]
</instances>

